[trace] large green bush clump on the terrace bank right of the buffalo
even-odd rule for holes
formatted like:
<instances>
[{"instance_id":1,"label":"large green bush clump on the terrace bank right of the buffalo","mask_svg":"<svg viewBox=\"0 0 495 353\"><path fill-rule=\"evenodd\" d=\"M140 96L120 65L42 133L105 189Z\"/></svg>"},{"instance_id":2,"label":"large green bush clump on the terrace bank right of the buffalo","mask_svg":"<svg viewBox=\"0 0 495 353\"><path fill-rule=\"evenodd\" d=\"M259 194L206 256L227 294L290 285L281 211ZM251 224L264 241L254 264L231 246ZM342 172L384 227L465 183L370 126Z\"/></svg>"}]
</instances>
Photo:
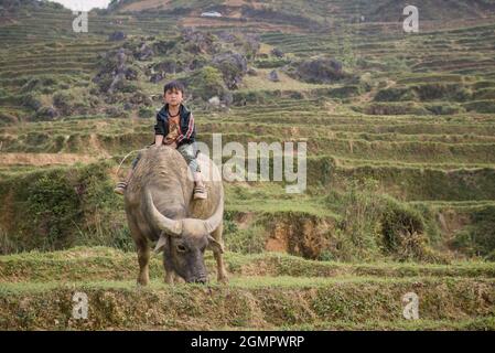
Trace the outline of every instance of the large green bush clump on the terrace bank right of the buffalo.
<instances>
[{"instance_id":1,"label":"large green bush clump on the terrace bank right of the buffalo","mask_svg":"<svg viewBox=\"0 0 495 353\"><path fill-rule=\"evenodd\" d=\"M431 243L439 239L432 212L379 194L377 188L373 179L353 180L344 185L344 192L326 197L342 220L331 234L331 245L322 252L324 257L446 261L431 248Z\"/></svg>"}]
</instances>

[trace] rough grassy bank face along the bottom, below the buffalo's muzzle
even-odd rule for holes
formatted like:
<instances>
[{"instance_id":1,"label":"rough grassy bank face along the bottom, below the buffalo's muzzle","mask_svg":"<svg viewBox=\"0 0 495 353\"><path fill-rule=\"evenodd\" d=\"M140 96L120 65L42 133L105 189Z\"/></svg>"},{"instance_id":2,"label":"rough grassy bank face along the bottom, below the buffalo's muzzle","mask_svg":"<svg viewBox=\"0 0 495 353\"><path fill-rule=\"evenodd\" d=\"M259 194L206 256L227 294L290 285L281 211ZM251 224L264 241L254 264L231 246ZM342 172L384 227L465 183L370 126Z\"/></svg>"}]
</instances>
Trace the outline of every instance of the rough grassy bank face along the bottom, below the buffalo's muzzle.
<instances>
[{"instance_id":1,"label":"rough grassy bank face along the bottom, below the buffalo's muzzle","mask_svg":"<svg viewBox=\"0 0 495 353\"><path fill-rule=\"evenodd\" d=\"M109 280L9 284L0 287L0 327L95 330L136 329L147 324L190 330L223 327L287 329L294 325L316 328L329 322L353 325L374 320L390 327L398 322L400 327L403 324L401 297L411 290L421 298L420 314L426 322L449 327L459 319L489 320L494 314L491 306L494 286L493 280L484 279L334 280L266 276L233 278L228 287L170 287L152 281L143 289L133 281ZM86 320L71 319L71 299L76 291L88 296ZM166 310L162 307L164 302ZM416 327L421 328L421 322Z\"/></svg>"}]
</instances>

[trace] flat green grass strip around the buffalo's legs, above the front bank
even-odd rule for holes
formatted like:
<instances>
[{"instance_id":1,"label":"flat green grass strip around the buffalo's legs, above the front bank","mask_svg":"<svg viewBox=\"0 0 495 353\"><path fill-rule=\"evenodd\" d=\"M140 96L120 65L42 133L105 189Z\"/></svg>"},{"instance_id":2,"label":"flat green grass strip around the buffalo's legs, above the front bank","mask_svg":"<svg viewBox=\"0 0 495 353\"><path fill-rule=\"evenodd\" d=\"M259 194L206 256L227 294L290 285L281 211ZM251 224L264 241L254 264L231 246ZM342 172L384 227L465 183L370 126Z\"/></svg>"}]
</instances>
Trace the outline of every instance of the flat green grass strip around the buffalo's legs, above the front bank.
<instances>
[{"instance_id":1,"label":"flat green grass strip around the buffalo's legs, above the front bank","mask_svg":"<svg viewBox=\"0 0 495 353\"><path fill-rule=\"evenodd\" d=\"M163 278L163 267L160 256L151 259L151 278ZM213 256L207 253L206 264L212 274L215 274ZM453 261L450 265L418 264L418 263L341 263L315 261L291 256L283 253L260 254L226 254L227 270L232 276L243 278L239 286L247 278L255 286L262 277L271 278L281 284L286 279L309 281L325 280L340 281L353 279L384 280L411 278L494 278L494 263L485 261ZM138 270L137 256L133 252L125 253L108 247L75 247L68 250L52 253L21 253L7 255L0 258L0 284L45 284L45 282L77 282L88 278L100 281L134 280ZM258 278L258 279L256 279ZM284 279L286 278L286 279ZM320 279L319 279L320 278ZM234 282L236 282L234 280Z\"/></svg>"}]
</instances>

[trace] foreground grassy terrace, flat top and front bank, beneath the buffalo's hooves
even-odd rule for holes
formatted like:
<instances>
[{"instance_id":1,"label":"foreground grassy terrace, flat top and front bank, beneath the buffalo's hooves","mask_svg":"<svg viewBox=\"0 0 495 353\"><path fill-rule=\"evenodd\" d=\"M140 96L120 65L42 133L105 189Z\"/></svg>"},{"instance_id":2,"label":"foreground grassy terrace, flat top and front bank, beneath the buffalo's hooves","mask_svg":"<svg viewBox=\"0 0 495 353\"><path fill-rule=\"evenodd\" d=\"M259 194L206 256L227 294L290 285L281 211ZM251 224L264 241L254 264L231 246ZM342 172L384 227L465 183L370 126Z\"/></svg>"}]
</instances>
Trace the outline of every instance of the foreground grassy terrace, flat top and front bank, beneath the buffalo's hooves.
<instances>
[{"instance_id":1,"label":"foreground grassy terrace, flat top and front bank, beneath the buffalo's hooves","mask_svg":"<svg viewBox=\"0 0 495 353\"><path fill-rule=\"evenodd\" d=\"M314 263L278 254L228 254L228 287L152 282L138 288L133 254L109 248L30 253L0 260L3 329L493 329L494 266ZM212 258L208 258L212 265ZM15 267L21 270L12 271ZM64 276L61 276L64 274ZM212 275L213 276L213 275ZM273 277L275 276L275 277ZM315 277L316 276L316 277ZM49 280L50 278L50 280ZM84 291L87 320L74 320ZM415 291L420 318L401 317ZM166 302L166 307L163 303Z\"/></svg>"}]
</instances>

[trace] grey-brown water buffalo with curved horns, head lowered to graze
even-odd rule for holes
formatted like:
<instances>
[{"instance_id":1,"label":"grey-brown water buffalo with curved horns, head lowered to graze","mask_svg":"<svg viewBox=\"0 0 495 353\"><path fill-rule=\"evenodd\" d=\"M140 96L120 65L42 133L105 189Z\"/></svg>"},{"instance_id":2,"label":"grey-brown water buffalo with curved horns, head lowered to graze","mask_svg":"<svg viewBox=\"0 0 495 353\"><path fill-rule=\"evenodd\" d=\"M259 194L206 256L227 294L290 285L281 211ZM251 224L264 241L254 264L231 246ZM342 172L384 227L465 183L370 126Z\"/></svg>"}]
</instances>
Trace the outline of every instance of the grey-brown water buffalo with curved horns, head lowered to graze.
<instances>
[{"instance_id":1,"label":"grey-brown water buffalo with curved horns, head lowered to graze","mask_svg":"<svg viewBox=\"0 0 495 353\"><path fill-rule=\"evenodd\" d=\"M165 281L179 276L186 282L206 282L205 249L217 264L218 281L227 281L223 263L224 188L218 168L197 156L206 200L193 200L194 181L183 157L168 146L144 150L129 180L125 208L139 261L139 285L149 282L150 243L163 252Z\"/></svg>"}]
</instances>

